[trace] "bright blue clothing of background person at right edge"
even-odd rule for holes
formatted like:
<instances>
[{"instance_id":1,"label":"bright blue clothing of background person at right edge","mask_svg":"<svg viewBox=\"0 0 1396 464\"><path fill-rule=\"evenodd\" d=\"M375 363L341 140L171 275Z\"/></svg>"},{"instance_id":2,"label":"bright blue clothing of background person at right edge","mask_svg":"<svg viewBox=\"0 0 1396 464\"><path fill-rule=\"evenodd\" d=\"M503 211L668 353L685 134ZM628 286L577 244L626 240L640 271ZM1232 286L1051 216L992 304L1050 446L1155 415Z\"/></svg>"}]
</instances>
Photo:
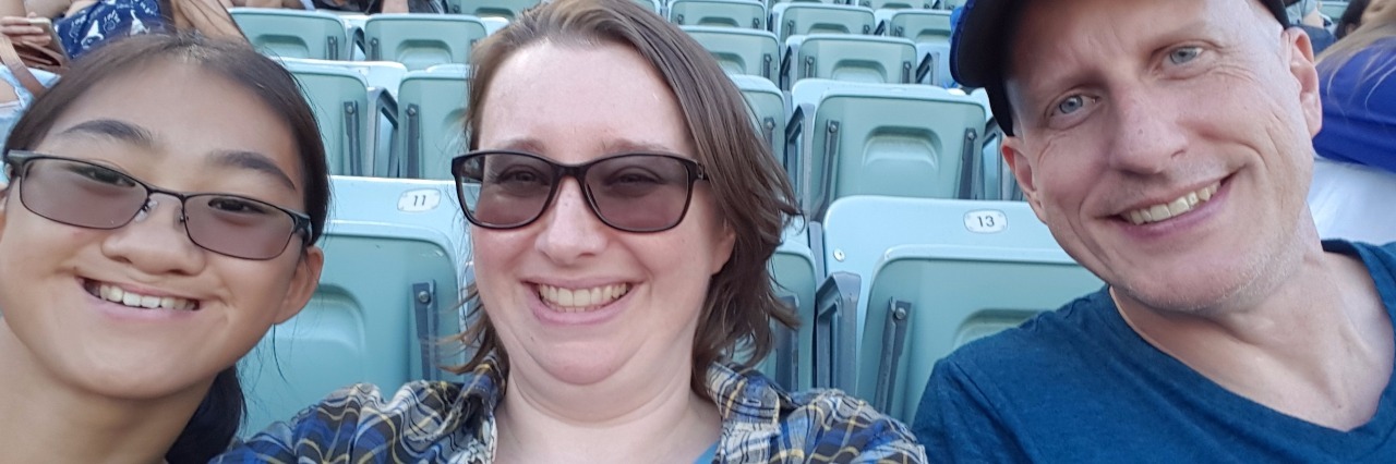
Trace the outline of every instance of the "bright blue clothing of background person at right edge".
<instances>
[{"instance_id":1,"label":"bright blue clothing of background person at right edge","mask_svg":"<svg viewBox=\"0 0 1396 464\"><path fill-rule=\"evenodd\" d=\"M1342 67L1330 63L1318 67L1323 130L1314 149L1396 173L1396 38L1376 40Z\"/></svg>"}]
</instances>

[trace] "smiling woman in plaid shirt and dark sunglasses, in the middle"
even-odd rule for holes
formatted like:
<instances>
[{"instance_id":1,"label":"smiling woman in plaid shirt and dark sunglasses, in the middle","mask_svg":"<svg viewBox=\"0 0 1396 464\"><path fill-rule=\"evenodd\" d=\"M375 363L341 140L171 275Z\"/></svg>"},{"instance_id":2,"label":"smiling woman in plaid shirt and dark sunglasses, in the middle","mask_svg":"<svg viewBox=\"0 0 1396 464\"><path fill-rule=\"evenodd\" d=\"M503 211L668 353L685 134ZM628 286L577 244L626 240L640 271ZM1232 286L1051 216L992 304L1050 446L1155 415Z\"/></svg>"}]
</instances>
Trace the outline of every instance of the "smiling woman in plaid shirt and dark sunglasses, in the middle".
<instances>
[{"instance_id":1,"label":"smiling woman in plaid shirt and dark sunglasses, in the middle","mask_svg":"<svg viewBox=\"0 0 1396 464\"><path fill-rule=\"evenodd\" d=\"M868 404L751 369L796 322L766 272L796 208L706 50L632 0L558 0L473 57L465 382L338 392L223 463L924 460Z\"/></svg>"}]
</instances>

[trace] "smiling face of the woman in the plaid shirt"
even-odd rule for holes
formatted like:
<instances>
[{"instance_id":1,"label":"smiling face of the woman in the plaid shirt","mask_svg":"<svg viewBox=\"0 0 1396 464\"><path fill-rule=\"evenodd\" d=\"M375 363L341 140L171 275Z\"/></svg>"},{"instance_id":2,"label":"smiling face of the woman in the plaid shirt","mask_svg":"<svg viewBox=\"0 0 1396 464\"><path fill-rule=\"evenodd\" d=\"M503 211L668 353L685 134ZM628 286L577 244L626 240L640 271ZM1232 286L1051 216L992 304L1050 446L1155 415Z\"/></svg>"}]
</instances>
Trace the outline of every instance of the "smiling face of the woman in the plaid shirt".
<instances>
[{"instance_id":1,"label":"smiling face of the woman in the plaid shirt","mask_svg":"<svg viewBox=\"0 0 1396 464\"><path fill-rule=\"evenodd\" d=\"M518 50L484 100L480 150L529 152L563 164L634 152L695 157L673 92L620 45L544 42ZM694 184L676 227L627 233L602 223L567 177L533 223L472 227L470 240L512 390L625 385L666 372L687 379L709 279L727 262L734 238L705 181Z\"/></svg>"}]
</instances>

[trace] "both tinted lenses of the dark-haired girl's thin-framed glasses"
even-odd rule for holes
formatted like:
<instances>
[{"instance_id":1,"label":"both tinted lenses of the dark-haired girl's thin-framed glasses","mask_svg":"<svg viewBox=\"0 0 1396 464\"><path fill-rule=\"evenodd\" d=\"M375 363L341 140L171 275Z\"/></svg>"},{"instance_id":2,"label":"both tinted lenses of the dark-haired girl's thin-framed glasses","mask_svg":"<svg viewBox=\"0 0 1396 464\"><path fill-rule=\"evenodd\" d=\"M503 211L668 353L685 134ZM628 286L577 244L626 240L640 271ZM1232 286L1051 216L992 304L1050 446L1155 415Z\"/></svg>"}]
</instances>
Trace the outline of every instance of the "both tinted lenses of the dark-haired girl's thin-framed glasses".
<instances>
[{"instance_id":1,"label":"both tinted lenses of the dark-haired girl's thin-framed glasses","mask_svg":"<svg viewBox=\"0 0 1396 464\"><path fill-rule=\"evenodd\" d=\"M88 229L126 226L149 191L130 176L96 164L34 159L20 178L20 201L35 215ZM173 198L172 198L173 201ZM296 223L269 203L242 196L197 194L184 201L188 238L208 251L271 259L286 248Z\"/></svg>"}]
</instances>

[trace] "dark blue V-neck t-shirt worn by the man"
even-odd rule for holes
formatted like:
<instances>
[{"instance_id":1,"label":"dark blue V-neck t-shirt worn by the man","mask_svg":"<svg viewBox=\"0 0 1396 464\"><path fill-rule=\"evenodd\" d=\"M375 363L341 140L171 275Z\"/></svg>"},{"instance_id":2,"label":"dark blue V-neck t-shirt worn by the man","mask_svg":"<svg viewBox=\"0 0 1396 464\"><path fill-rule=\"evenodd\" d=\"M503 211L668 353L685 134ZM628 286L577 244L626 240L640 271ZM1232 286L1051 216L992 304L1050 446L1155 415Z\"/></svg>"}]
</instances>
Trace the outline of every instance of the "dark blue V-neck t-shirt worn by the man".
<instances>
[{"instance_id":1,"label":"dark blue V-neck t-shirt worn by the man","mask_svg":"<svg viewBox=\"0 0 1396 464\"><path fill-rule=\"evenodd\" d=\"M1396 242L1323 248L1360 256L1396 312ZM937 362L912 431L933 463L1396 463L1393 396L1350 432L1284 415L1150 346L1099 291Z\"/></svg>"}]
</instances>

